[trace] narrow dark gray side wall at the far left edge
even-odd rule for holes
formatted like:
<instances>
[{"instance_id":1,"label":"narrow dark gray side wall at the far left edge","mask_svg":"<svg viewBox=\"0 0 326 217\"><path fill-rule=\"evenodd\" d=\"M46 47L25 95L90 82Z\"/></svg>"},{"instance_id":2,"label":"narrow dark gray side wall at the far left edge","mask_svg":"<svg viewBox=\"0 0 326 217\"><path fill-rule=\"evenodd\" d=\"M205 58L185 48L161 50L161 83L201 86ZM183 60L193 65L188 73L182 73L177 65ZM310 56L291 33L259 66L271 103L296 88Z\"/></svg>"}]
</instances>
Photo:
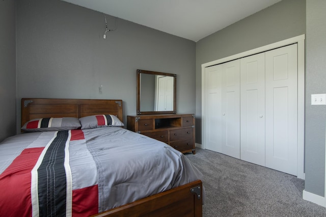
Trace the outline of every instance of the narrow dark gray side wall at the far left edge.
<instances>
[{"instance_id":1,"label":"narrow dark gray side wall at the far left edge","mask_svg":"<svg viewBox=\"0 0 326 217\"><path fill-rule=\"evenodd\" d=\"M0 1L0 141L16 134L15 1Z\"/></svg>"}]
</instances>

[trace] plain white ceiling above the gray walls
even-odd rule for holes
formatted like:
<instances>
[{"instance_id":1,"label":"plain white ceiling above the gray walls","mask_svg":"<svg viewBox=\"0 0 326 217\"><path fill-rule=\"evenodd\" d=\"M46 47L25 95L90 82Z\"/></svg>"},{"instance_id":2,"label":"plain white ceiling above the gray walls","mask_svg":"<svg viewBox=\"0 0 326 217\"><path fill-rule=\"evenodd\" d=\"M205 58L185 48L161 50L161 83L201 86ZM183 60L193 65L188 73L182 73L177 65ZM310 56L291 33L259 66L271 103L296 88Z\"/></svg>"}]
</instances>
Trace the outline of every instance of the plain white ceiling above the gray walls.
<instances>
[{"instance_id":1,"label":"plain white ceiling above the gray walls","mask_svg":"<svg viewBox=\"0 0 326 217\"><path fill-rule=\"evenodd\" d=\"M198 41L281 0L62 0Z\"/></svg>"}]
</instances>

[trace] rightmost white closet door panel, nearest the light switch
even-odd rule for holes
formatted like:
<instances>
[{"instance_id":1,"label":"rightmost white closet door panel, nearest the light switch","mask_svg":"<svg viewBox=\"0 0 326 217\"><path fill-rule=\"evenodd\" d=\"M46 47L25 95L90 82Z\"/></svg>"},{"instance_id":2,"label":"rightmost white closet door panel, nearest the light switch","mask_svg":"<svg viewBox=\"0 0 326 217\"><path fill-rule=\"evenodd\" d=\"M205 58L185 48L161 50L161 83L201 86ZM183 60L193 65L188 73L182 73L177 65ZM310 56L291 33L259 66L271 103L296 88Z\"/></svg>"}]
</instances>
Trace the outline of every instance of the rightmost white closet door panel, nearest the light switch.
<instances>
[{"instance_id":1,"label":"rightmost white closet door panel, nearest the light switch","mask_svg":"<svg viewBox=\"0 0 326 217\"><path fill-rule=\"evenodd\" d=\"M297 45L265 53L266 167L297 174Z\"/></svg>"}]
</instances>

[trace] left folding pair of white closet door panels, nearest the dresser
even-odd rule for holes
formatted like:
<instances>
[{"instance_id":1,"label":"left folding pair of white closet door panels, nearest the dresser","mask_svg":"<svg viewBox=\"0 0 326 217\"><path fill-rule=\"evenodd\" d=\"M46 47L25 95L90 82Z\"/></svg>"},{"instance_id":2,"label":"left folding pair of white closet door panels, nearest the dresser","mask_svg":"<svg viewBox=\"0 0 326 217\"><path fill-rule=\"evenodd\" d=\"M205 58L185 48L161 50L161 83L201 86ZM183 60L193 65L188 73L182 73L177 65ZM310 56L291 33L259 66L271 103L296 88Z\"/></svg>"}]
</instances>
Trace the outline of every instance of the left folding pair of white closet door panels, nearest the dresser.
<instances>
[{"instance_id":1,"label":"left folding pair of white closet door panels, nearest the dresser","mask_svg":"<svg viewBox=\"0 0 326 217\"><path fill-rule=\"evenodd\" d=\"M205 148L240 158L240 61L205 69Z\"/></svg>"}]
</instances>

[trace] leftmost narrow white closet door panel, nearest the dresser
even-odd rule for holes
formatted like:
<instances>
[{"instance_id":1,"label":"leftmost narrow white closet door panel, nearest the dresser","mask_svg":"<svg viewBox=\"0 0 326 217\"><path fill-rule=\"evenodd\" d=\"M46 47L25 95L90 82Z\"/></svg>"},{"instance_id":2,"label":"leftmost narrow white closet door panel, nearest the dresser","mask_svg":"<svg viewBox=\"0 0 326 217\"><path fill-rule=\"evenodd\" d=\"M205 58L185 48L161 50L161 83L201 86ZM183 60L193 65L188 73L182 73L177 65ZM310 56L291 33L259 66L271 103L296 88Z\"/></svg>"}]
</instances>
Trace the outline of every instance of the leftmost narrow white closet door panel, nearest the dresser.
<instances>
[{"instance_id":1,"label":"leftmost narrow white closet door panel, nearest the dresser","mask_svg":"<svg viewBox=\"0 0 326 217\"><path fill-rule=\"evenodd\" d=\"M205 148L222 151L222 70L221 66L205 69Z\"/></svg>"}]
</instances>

